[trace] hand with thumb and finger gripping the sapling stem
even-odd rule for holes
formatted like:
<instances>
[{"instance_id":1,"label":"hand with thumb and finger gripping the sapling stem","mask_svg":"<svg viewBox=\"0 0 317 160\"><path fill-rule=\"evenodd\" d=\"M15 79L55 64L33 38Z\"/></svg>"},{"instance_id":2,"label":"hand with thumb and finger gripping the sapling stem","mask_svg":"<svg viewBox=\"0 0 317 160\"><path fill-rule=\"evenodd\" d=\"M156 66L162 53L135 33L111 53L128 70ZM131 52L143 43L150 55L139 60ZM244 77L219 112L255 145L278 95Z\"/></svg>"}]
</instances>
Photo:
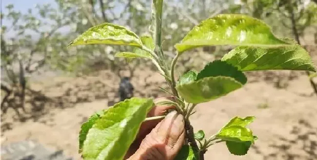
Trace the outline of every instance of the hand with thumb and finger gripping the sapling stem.
<instances>
[{"instance_id":1,"label":"hand with thumb and finger gripping the sapling stem","mask_svg":"<svg viewBox=\"0 0 317 160\"><path fill-rule=\"evenodd\" d=\"M155 106L147 117L164 115L167 109L174 107ZM170 112L163 120L143 122L124 160L174 160L184 143L184 137L184 118L176 111Z\"/></svg>"}]
</instances>

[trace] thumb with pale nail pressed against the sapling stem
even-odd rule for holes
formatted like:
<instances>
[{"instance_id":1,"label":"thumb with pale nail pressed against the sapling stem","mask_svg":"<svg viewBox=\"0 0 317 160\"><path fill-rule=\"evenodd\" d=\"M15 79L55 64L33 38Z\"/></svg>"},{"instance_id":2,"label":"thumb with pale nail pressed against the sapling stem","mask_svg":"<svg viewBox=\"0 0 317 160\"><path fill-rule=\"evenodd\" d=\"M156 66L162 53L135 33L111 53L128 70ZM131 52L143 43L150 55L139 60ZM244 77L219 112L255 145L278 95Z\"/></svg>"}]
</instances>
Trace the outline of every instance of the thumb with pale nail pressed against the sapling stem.
<instances>
[{"instance_id":1,"label":"thumb with pale nail pressed against the sapling stem","mask_svg":"<svg viewBox=\"0 0 317 160\"><path fill-rule=\"evenodd\" d=\"M169 113L128 160L174 160L184 143L184 118L176 111Z\"/></svg>"}]
</instances>

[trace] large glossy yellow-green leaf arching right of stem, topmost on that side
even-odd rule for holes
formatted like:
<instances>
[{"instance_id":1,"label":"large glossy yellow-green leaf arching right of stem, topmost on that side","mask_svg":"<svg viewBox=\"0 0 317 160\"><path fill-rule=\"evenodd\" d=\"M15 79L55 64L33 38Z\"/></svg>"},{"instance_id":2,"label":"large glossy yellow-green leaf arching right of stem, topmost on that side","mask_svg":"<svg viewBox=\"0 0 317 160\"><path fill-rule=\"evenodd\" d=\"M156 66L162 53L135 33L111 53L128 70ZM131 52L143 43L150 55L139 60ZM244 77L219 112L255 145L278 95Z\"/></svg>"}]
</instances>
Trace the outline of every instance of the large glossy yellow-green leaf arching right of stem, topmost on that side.
<instances>
[{"instance_id":1,"label":"large glossy yellow-green leaf arching right of stem, topmost on that side","mask_svg":"<svg viewBox=\"0 0 317 160\"><path fill-rule=\"evenodd\" d=\"M262 20L246 15L219 14L195 26L175 48L182 53L210 45L278 47L289 44L274 36Z\"/></svg>"}]
</instances>

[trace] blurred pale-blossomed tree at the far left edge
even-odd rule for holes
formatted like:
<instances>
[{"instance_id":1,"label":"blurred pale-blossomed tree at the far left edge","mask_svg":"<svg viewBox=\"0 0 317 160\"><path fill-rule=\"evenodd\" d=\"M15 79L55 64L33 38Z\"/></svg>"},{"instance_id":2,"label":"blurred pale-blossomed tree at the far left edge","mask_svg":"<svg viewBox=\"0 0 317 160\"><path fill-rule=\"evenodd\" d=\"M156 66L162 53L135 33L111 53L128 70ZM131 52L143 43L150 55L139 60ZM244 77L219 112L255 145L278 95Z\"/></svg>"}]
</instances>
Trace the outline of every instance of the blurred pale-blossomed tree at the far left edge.
<instances>
[{"instance_id":1,"label":"blurred pale-blossomed tree at the far left edge","mask_svg":"<svg viewBox=\"0 0 317 160\"><path fill-rule=\"evenodd\" d=\"M24 110L28 77L41 71L54 52L63 50L59 41L66 39L59 31L70 21L49 4L37 5L27 13L16 11L12 4L5 9L1 13L1 89L6 95L1 110L5 113L13 107L20 115L18 108ZM3 19L10 24L3 24ZM13 99L9 99L11 95ZM20 98L18 104L14 101L16 96Z\"/></svg>"}]
</instances>

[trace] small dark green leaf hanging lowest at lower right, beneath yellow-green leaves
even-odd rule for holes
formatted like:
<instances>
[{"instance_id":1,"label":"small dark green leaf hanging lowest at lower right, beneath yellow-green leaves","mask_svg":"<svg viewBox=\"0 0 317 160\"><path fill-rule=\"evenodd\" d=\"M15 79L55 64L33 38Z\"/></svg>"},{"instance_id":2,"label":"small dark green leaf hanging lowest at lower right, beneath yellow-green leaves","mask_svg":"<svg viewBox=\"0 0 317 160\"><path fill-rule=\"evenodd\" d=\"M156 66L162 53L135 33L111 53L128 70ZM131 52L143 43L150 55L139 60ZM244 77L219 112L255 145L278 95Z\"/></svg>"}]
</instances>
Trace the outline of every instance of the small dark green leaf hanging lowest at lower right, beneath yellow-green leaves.
<instances>
[{"instance_id":1,"label":"small dark green leaf hanging lowest at lower right, beneath yellow-green leaves","mask_svg":"<svg viewBox=\"0 0 317 160\"><path fill-rule=\"evenodd\" d=\"M252 142L233 142L226 141L226 145L231 154L242 156L248 153L248 150L251 146Z\"/></svg>"}]
</instances>

